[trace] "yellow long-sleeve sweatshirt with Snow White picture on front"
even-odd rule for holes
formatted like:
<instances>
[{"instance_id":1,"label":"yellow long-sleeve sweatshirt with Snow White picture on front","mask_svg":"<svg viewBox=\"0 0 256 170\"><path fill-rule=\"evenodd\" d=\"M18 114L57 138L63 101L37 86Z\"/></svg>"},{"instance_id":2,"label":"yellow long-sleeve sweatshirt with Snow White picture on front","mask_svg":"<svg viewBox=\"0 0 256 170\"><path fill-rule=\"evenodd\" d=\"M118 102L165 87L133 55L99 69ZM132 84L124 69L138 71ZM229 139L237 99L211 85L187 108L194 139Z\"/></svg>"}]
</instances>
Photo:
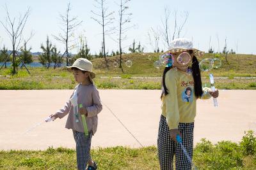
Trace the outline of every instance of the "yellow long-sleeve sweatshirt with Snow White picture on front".
<instances>
[{"instance_id":1,"label":"yellow long-sleeve sweatshirt with Snow White picture on front","mask_svg":"<svg viewBox=\"0 0 256 170\"><path fill-rule=\"evenodd\" d=\"M170 69L165 74L168 95L162 97L162 115L166 117L169 129L178 129L179 123L194 122L196 97L193 76Z\"/></svg>"}]
</instances>

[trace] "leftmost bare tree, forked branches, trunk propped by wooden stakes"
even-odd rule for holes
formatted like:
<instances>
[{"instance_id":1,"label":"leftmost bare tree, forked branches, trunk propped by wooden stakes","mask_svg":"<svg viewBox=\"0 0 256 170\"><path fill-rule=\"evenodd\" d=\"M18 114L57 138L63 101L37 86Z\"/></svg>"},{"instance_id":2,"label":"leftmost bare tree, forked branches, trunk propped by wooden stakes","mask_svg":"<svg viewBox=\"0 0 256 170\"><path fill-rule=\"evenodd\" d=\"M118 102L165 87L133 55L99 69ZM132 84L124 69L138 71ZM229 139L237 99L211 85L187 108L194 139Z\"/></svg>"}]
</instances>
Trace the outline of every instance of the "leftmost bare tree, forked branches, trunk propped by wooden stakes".
<instances>
[{"instance_id":1,"label":"leftmost bare tree, forked branches, trunk propped by wooden stakes","mask_svg":"<svg viewBox=\"0 0 256 170\"><path fill-rule=\"evenodd\" d=\"M28 8L28 10L24 13L24 15L20 15L19 20L16 22L15 17L13 18L13 20L10 18L10 13L6 6L6 23L4 24L2 21L0 21L12 41L12 67L13 67L12 74L17 73L17 69L18 69L19 62L20 62L20 59L19 60L17 59L17 57L19 57L19 55L17 55L17 51L19 51L20 41L22 40L24 27L26 25L29 15L30 15L30 8ZM17 26L15 26L15 25L17 25ZM33 36L33 34L31 32L30 38L32 36ZM10 57L10 55L9 55L9 57ZM6 60L8 60L9 57L7 57ZM4 62L6 62L6 60ZM21 62L22 62L22 64L24 64L24 62L22 60L21 60ZM24 64L24 67L26 67L25 64ZM28 71L27 67L26 67L26 69ZM28 73L29 73L29 71L28 71Z\"/></svg>"}]
</instances>

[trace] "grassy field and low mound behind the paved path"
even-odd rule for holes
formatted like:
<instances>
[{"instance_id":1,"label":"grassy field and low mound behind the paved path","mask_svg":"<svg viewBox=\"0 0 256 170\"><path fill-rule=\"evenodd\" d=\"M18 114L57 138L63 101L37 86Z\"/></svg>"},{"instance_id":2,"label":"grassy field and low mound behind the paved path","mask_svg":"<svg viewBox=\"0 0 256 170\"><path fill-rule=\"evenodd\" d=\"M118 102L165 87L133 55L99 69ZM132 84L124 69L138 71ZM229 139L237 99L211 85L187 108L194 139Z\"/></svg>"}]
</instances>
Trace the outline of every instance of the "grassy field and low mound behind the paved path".
<instances>
[{"instance_id":1,"label":"grassy field and low mound behind the paved path","mask_svg":"<svg viewBox=\"0 0 256 170\"><path fill-rule=\"evenodd\" d=\"M152 59L147 58L152 55ZM123 61L132 60L132 67L125 64L124 73L112 64L118 61L118 57L108 57L109 69L106 68L104 59L93 59L94 71L97 74L95 84L99 89L161 89L160 79L134 79L132 77L161 77L164 67L156 69L153 64L158 59L159 53L140 53L124 55ZM202 58L208 57L208 54ZM211 56L210 57L214 57ZM222 60L220 69L213 69L211 73L215 77L226 77L227 79L216 79L215 86L218 89L256 89L256 55L228 55L228 63L225 57L218 56ZM202 60L198 59L198 60ZM74 89L76 81L66 68L46 69L29 68L19 69L18 74L12 76L10 68L3 68L0 71L0 89ZM208 83L208 72L202 72L203 84ZM113 78L120 76L121 78ZM108 77L108 78L100 78ZM251 79L236 79L236 77L247 77Z\"/></svg>"}]
</instances>

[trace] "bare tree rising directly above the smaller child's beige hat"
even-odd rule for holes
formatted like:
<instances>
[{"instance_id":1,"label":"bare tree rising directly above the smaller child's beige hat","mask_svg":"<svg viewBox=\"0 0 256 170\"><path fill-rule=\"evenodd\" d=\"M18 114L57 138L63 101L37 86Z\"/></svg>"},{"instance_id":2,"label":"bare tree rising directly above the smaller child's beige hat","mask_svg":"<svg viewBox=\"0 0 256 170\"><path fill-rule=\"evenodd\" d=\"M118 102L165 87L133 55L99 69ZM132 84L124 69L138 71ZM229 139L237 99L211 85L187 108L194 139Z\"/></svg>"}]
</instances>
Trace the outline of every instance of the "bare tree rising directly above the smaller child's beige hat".
<instances>
[{"instance_id":1,"label":"bare tree rising directly above the smaller child's beige hat","mask_svg":"<svg viewBox=\"0 0 256 170\"><path fill-rule=\"evenodd\" d=\"M68 3L67 11L65 15L60 15L61 19L61 25L63 25L63 28L61 28L62 33L60 32L58 36L54 36L54 38L60 43L65 44L65 52L63 53L62 57L66 55L67 59L67 66L68 66L68 60L70 59L70 53L68 53L68 50L72 48L73 45L70 45L70 42L74 41L72 39L72 36L74 35L74 31L78 25L81 25L83 21L77 21L77 17L70 18L70 3Z\"/></svg>"}]
</instances>

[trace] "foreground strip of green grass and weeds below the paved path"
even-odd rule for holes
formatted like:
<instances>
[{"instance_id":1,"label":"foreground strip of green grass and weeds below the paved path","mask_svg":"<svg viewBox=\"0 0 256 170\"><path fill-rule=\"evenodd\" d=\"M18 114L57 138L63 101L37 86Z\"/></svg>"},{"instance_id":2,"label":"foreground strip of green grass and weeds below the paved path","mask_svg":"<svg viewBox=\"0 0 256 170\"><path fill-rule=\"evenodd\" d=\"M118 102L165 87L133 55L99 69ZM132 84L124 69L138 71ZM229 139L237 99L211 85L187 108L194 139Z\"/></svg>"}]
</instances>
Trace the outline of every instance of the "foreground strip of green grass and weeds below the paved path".
<instances>
[{"instance_id":1,"label":"foreground strip of green grass and weeds below the paved path","mask_svg":"<svg viewBox=\"0 0 256 170\"><path fill-rule=\"evenodd\" d=\"M159 169L156 146L95 148L99 169ZM202 139L194 148L198 169L256 169L256 136L248 131L240 143ZM0 169L76 169L76 151L49 147L43 151L0 151Z\"/></svg>"}]
</instances>

